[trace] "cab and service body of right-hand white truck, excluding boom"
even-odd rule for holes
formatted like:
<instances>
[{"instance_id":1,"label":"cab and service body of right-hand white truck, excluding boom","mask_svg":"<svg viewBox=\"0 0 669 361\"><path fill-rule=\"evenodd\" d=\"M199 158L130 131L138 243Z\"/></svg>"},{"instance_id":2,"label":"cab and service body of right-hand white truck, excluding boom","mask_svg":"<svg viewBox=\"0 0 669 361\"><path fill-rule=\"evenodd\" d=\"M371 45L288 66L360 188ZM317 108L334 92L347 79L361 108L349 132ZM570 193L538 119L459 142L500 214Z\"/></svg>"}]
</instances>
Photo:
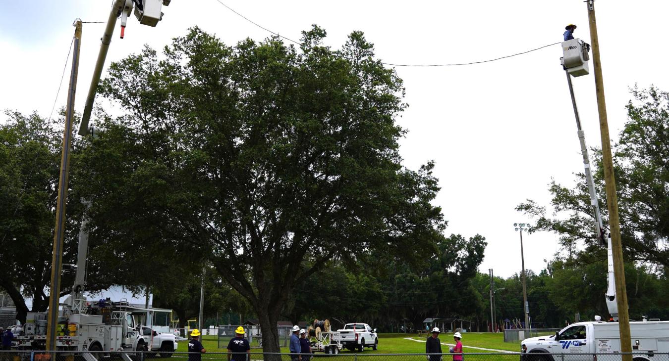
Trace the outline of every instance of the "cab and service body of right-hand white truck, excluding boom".
<instances>
[{"instance_id":1,"label":"cab and service body of right-hand white truck, excluding boom","mask_svg":"<svg viewBox=\"0 0 669 361\"><path fill-rule=\"evenodd\" d=\"M669 322L630 322L634 361L652 361L654 354L669 352ZM578 322L555 335L523 340L522 361L591 361L595 353L620 352L617 322ZM559 355L555 356L554 355Z\"/></svg>"}]
</instances>

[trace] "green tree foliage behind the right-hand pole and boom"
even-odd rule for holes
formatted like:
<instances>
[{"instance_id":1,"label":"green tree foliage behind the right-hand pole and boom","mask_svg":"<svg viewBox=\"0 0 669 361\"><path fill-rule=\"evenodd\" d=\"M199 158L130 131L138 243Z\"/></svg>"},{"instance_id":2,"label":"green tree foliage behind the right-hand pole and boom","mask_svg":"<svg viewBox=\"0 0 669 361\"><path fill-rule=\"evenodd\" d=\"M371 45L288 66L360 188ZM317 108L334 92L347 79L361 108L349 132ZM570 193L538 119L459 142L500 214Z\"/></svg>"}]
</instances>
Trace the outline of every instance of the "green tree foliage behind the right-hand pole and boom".
<instances>
[{"instance_id":1,"label":"green tree foliage behind the right-hand pole and boom","mask_svg":"<svg viewBox=\"0 0 669 361\"><path fill-rule=\"evenodd\" d=\"M614 150L614 173L619 218L628 260L669 266L669 93L655 87L632 89L628 121ZM594 151L593 173L603 222L607 223L600 151ZM583 173L575 188L551 182L553 212L528 200L518 210L537 218L537 230L557 232L569 250L586 246L605 248L595 238L594 216Z\"/></svg>"}]
</instances>

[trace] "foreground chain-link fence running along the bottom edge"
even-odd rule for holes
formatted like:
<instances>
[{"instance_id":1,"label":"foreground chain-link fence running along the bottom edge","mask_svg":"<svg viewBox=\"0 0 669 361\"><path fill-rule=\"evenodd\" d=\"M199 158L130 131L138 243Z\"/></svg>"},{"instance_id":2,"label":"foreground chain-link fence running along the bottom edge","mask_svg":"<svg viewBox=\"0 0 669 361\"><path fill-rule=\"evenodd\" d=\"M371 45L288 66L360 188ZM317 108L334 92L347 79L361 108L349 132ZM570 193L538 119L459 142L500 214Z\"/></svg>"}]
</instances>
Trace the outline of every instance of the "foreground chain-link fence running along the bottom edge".
<instances>
[{"instance_id":1,"label":"foreground chain-link fence running along the bottom edge","mask_svg":"<svg viewBox=\"0 0 669 361\"><path fill-rule=\"evenodd\" d=\"M634 361L669 361L668 353L652 351L634 352ZM334 357L338 361L623 361L623 354L587 354L587 353L553 353L553 354L521 354L511 353L469 353L464 354L372 354L371 352L344 352L330 354L269 354L251 352L250 354L211 353L188 354L187 352L171 352L161 355L159 352L128 352L110 353L104 351L90 352L44 352L44 351L0 351L0 361L149 361L152 358L173 358L183 361L313 361L314 358Z\"/></svg>"}]
</instances>

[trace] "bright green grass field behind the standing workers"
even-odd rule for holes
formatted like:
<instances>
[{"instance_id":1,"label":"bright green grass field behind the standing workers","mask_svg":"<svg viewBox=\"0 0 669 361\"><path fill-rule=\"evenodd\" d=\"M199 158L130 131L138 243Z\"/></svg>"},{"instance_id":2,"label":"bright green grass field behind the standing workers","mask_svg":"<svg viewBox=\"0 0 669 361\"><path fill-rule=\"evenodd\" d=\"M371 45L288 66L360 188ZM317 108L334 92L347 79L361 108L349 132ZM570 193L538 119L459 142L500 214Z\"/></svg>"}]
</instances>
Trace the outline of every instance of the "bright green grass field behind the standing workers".
<instances>
[{"instance_id":1,"label":"bright green grass field behind the standing workers","mask_svg":"<svg viewBox=\"0 0 669 361\"><path fill-rule=\"evenodd\" d=\"M225 350L224 342L221 344L222 348L218 348L217 336L206 335L202 336L202 344L207 349L207 352L227 352ZM413 340L425 340L425 337L419 337L417 334L379 334L379 350L373 351L371 348L365 348L365 354L420 354L425 352L425 344L423 342L415 342L406 340L405 338L413 338ZM453 334L440 334L442 343L452 344ZM180 342L179 351L185 352L187 342ZM181 346L183 345L183 346ZM518 351L520 346L518 344L510 344L504 342L504 334L490 334L467 332L462 335L463 346L475 346L482 348L491 348L495 350ZM442 346L445 352L448 352L448 346ZM465 352L490 352L484 350L476 350L472 348L464 348ZM262 352L262 348L252 348L251 352ZM282 348L281 352L288 352L288 348ZM343 354L352 353L344 351Z\"/></svg>"}]
</instances>

